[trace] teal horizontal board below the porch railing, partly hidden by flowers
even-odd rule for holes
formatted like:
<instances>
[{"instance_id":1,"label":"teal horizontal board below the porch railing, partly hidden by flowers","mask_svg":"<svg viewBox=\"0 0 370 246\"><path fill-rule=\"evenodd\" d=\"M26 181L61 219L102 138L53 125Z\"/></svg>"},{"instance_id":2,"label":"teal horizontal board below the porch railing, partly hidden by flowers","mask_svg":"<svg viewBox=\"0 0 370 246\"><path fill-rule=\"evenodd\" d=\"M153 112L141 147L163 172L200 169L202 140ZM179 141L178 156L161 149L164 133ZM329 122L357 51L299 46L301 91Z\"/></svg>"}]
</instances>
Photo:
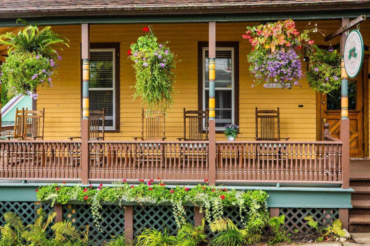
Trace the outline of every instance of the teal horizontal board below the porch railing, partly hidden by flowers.
<instances>
[{"instance_id":1,"label":"teal horizontal board below the porch railing, partly hidden by flowers","mask_svg":"<svg viewBox=\"0 0 370 246\"><path fill-rule=\"evenodd\" d=\"M45 184L40 184L45 185ZM0 201L37 201L36 191L40 185L1 185ZM75 184L70 184L75 185ZM87 185L81 185L81 187ZM98 187L98 184L94 184ZM111 185L106 185L111 186ZM169 188L174 185L168 185ZM192 185L189 185L192 187ZM231 187L239 189L262 189L269 194L268 207L271 208L352 208L351 192L353 189L342 189L338 187L264 187L245 186ZM76 202L71 202L76 203ZM81 203L81 202L77 202ZM130 205L129 203L124 205Z\"/></svg>"}]
</instances>

